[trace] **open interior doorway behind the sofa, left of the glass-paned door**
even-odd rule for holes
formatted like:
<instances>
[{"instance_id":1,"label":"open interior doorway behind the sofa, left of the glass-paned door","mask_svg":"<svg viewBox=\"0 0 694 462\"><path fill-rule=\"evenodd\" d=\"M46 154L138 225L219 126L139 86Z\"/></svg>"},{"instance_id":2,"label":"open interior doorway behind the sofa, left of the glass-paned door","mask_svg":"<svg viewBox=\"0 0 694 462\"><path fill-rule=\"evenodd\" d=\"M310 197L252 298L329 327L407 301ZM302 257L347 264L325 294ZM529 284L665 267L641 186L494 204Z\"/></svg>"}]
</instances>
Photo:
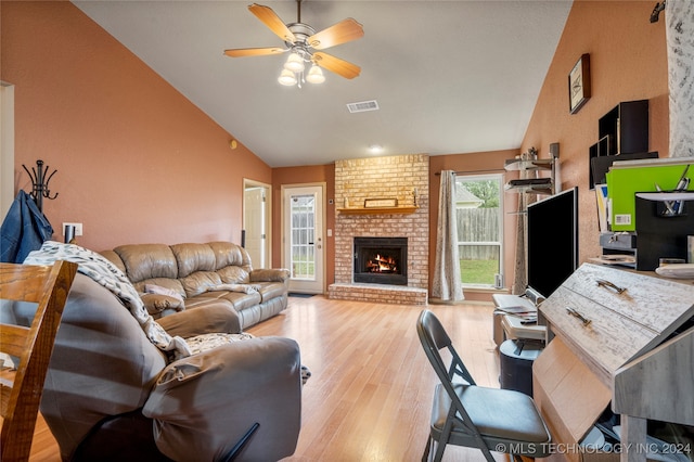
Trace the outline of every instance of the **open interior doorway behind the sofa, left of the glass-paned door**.
<instances>
[{"instance_id":1,"label":"open interior doorway behind the sofa, left of the glass-paned door","mask_svg":"<svg viewBox=\"0 0 694 462\"><path fill-rule=\"evenodd\" d=\"M253 268L269 268L271 187L259 181L243 180L243 245L250 255Z\"/></svg>"}]
</instances>

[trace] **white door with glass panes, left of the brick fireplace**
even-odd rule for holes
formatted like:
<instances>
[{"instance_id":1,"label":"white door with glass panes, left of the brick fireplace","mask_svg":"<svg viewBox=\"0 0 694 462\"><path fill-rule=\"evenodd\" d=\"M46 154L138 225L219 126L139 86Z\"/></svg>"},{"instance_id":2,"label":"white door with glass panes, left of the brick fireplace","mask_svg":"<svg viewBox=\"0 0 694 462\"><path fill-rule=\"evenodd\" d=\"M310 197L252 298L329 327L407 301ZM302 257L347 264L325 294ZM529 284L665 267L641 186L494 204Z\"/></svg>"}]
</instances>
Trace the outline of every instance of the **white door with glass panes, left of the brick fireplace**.
<instances>
[{"instance_id":1,"label":"white door with glass panes, left of the brick fireplace","mask_svg":"<svg viewBox=\"0 0 694 462\"><path fill-rule=\"evenodd\" d=\"M290 291L323 293L323 188L283 188L284 261Z\"/></svg>"}]
</instances>

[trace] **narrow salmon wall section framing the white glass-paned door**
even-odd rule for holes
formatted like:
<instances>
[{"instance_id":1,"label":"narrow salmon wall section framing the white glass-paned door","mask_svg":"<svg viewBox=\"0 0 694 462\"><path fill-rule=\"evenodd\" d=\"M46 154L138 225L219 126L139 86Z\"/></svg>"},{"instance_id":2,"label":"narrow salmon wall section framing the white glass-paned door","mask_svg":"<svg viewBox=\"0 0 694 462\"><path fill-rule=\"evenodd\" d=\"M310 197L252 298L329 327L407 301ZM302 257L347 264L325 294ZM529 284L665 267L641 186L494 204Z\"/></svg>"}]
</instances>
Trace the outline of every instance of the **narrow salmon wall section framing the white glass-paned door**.
<instances>
[{"instance_id":1,"label":"narrow salmon wall section framing the white glass-paned door","mask_svg":"<svg viewBox=\"0 0 694 462\"><path fill-rule=\"evenodd\" d=\"M282 185L301 185L308 183L325 183L325 232L335 230L335 165L313 165L301 167L279 167L272 170L272 222L274 230L282 228ZM282 232L272 233L272 265L279 268L282 264ZM325 286L335 282L335 241L325 238Z\"/></svg>"}]
</instances>

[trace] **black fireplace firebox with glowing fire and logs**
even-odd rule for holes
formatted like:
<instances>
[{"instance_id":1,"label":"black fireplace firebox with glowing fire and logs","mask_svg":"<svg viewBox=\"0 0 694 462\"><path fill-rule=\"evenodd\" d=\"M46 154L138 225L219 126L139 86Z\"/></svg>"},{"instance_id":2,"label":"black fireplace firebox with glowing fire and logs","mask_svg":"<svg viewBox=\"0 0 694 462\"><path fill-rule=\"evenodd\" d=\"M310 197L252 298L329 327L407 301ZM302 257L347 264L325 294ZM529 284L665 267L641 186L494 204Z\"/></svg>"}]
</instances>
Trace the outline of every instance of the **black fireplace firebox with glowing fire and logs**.
<instances>
[{"instance_id":1,"label":"black fireplace firebox with glowing fire and logs","mask_svg":"<svg viewBox=\"0 0 694 462\"><path fill-rule=\"evenodd\" d=\"M355 238L355 282L408 285L407 238Z\"/></svg>"}]
</instances>

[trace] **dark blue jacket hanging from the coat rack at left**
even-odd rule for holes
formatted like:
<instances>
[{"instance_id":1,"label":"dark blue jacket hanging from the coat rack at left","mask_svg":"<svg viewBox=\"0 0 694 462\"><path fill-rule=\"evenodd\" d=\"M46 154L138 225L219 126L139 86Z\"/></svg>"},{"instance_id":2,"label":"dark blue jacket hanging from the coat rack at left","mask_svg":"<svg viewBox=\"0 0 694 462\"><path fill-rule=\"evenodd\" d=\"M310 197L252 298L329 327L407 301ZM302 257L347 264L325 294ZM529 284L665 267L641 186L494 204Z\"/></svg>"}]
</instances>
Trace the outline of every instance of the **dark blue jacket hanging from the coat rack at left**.
<instances>
[{"instance_id":1,"label":"dark blue jacket hanging from the coat rack at left","mask_svg":"<svg viewBox=\"0 0 694 462\"><path fill-rule=\"evenodd\" d=\"M20 190L0 228L0 261L21 264L53 235L53 227L29 194Z\"/></svg>"}]
</instances>

